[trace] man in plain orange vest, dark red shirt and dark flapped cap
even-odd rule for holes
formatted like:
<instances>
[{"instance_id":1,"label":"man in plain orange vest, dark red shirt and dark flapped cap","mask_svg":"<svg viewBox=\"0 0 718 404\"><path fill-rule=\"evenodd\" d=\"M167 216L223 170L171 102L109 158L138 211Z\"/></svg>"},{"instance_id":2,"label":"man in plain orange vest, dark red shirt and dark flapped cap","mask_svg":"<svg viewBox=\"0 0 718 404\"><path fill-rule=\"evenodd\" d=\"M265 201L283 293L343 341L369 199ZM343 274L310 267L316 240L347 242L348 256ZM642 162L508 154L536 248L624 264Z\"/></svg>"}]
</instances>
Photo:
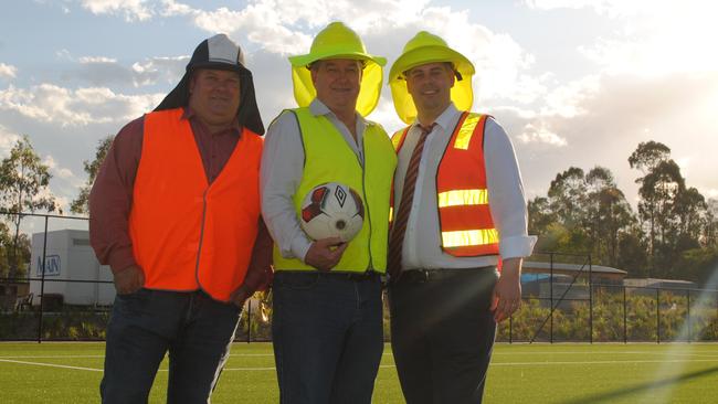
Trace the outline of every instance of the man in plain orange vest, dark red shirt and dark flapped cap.
<instances>
[{"instance_id":1,"label":"man in plain orange vest, dark red shirt and dark flapped cap","mask_svg":"<svg viewBox=\"0 0 718 404\"><path fill-rule=\"evenodd\" d=\"M115 138L89 198L91 243L117 289L103 403L146 403L167 352L167 402L210 401L242 306L271 279L263 134L252 73L219 34Z\"/></svg>"}]
</instances>

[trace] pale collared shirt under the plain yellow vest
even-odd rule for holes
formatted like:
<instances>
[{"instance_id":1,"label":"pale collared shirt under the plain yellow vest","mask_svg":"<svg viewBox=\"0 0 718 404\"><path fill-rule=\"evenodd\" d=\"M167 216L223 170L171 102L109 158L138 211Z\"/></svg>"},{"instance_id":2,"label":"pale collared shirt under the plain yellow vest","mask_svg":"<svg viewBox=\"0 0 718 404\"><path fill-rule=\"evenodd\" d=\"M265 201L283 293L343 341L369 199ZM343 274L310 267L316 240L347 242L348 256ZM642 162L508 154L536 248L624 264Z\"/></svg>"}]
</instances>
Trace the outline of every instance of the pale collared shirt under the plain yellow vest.
<instances>
[{"instance_id":1,"label":"pale collared shirt under the plain yellow vest","mask_svg":"<svg viewBox=\"0 0 718 404\"><path fill-rule=\"evenodd\" d=\"M357 140L347 126L319 99L309 105L312 115L324 115L344 136L363 167L363 132L367 120L357 113ZM304 176L304 146L295 115L284 111L270 125L264 139L260 190L264 222L285 258L304 257L312 245L297 219L294 194Z\"/></svg>"}]
</instances>

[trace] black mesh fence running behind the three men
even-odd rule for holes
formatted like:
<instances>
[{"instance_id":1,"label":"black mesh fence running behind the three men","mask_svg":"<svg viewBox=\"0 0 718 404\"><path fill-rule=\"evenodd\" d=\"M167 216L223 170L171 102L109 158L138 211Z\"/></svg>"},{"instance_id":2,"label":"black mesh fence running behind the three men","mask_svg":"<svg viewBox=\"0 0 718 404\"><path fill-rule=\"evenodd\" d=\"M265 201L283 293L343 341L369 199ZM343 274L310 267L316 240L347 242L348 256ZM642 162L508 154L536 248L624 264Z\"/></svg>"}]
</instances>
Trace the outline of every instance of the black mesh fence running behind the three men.
<instances>
[{"instance_id":1,"label":"black mesh fence running behind the three men","mask_svg":"<svg viewBox=\"0 0 718 404\"><path fill-rule=\"evenodd\" d=\"M31 262L22 277L0 276L0 340L104 340L114 287L109 268L94 258L87 219L23 214L23 221L33 222ZM521 308L498 326L497 341L718 341L718 290L624 286L582 255L527 261L543 269L525 274ZM236 341L272 340L271 300L263 293L247 302ZM389 321L384 306L387 340Z\"/></svg>"}]
</instances>

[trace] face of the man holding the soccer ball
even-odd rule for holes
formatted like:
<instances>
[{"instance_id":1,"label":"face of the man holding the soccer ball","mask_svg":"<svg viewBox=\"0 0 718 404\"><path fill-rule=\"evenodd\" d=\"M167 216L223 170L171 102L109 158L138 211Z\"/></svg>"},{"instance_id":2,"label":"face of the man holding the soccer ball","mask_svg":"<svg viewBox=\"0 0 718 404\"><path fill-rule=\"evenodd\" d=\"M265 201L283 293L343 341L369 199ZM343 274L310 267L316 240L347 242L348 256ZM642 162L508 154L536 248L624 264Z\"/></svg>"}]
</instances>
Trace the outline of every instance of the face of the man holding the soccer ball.
<instances>
[{"instance_id":1,"label":"face of the man holding the soccer ball","mask_svg":"<svg viewBox=\"0 0 718 404\"><path fill-rule=\"evenodd\" d=\"M351 59L317 61L312 65L317 98L337 115L353 114L361 84L361 62Z\"/></svg>"}]
</instances>

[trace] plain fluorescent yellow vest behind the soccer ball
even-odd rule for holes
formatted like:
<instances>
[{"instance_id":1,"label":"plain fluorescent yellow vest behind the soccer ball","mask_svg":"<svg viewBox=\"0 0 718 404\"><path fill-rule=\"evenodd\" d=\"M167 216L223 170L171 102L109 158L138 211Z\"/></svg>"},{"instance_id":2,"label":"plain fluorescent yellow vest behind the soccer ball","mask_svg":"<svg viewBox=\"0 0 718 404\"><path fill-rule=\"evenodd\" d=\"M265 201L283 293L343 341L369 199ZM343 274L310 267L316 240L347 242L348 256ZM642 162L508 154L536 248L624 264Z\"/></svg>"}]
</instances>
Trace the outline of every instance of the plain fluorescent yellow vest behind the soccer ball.
<instances>
[{"instance_id":1,"label":"plain fluorescent yellow vest behind the soccer ball","mask_svg":"<svg viewBox=\"0 0 718 404\"><path fill-rule=\"evenodd\" d=\"M309 190L326 182L342 182L361 196L365 222L349 242L334 272L384 273L389 234L389 198L397 155L381 126L368 121L363 134L363 168L344 136L325 116L309 108L291 110L297 118L304 146L305 166L302 182L293 201L300 217L302 201ZM316 270L299 259L287 259L274 246L275 270Z\"/></svg>"}]
</instances>

